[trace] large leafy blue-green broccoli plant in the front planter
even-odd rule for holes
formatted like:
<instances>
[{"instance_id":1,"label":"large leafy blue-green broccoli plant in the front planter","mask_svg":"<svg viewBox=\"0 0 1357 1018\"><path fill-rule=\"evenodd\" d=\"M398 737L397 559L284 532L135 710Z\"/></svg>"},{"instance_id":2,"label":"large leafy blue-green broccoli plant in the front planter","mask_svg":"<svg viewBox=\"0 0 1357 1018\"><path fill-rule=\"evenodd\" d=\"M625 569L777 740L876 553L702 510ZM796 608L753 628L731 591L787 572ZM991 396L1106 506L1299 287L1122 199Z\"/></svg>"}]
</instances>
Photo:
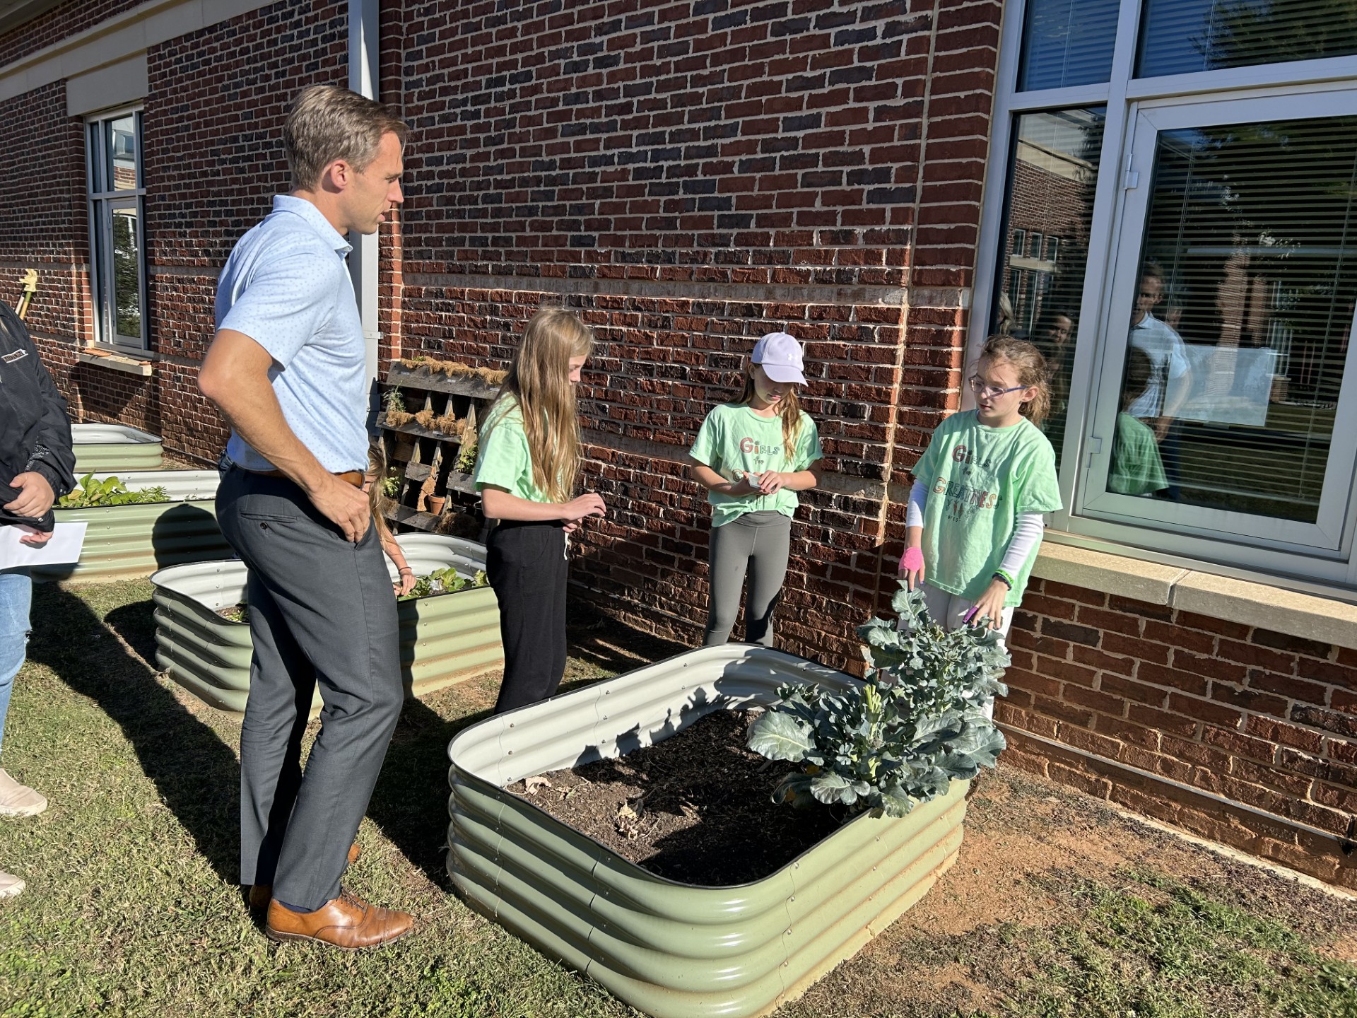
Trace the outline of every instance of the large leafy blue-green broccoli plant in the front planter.
<instances>
[{"instance_id":1,"label":"large leafy blue-green broccoli plant in the front planter","mask_svg":"<svg viewBox=\"0 0 1357 1018\"><path fill-rule=\"evenodd\" d=\"M749 729L749 748L799 764L773 790L775 802L843 804L898 817L946 794L953 779L993 767L1004 737L987 717L1008 654L999 634L946 631L928 618L923 590L904 584L892 599L900 623L858 627L870 662L860 685L833 692L783 685L778 704Z\"/></svg>"}]
</instances>

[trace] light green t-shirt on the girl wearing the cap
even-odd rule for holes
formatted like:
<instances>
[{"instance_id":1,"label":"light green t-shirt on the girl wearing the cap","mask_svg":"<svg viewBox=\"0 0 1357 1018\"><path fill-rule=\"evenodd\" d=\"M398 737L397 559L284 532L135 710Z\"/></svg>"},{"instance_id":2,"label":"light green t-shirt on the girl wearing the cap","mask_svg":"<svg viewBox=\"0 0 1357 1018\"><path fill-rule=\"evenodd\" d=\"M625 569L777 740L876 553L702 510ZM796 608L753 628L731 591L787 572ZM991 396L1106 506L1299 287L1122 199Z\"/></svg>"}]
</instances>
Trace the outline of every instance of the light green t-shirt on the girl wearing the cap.
<instances>
[{"instance_id":1,"label":"light green t-shirt on the girl wearing the cap","mask_svg":"<svg viewBox=\"0 0 1357 1018\"><path fill-rule=\"evenodd\" d=\"M795 455L788 460L782 440L782 417L760 417L748 403L723 403L714 407L702 422L697 441L688 451L702 464L711 467L726 480L735 480L735 471L763 474L769 470L795 472L824 459L820 436L810 415L802 411L801 430L797 432ZM721 527L744 513L772 509L792 516L801 501L795 491L782 489L771 495L722 495L707 493L711 504L711 525Z\"/></svg>"}]
</instances>

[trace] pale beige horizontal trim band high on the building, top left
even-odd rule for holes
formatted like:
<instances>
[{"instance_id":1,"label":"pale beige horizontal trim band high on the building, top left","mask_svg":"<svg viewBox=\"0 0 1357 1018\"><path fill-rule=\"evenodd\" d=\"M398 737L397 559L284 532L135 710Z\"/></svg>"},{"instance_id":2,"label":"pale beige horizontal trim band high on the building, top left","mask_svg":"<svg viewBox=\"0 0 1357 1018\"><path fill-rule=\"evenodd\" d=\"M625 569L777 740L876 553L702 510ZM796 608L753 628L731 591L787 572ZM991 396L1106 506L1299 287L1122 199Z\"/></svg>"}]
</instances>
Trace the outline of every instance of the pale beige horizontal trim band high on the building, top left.
<instances>
[{"instance_id":1,"label":"pale beige horizontal trim band high on the building, top left","mask_svg":"<svg viewBox=\"0 0 1357 1018\"><path fill-rule=\"evenodd\" d=\"M267 1L148 0L0 68L0 100L99 71L161 42L256 11Z\"/></svg>"}]
</instances>

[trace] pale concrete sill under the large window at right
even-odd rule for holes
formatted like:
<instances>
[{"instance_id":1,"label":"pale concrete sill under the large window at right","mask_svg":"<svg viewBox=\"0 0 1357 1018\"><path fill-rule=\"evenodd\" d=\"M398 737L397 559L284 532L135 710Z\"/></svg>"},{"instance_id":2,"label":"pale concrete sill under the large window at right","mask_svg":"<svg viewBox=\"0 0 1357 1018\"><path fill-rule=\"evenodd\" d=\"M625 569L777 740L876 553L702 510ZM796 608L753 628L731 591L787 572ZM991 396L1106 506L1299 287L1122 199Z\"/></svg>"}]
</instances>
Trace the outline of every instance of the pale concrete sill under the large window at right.
<instances>
[{"instance_id":1,"label":"pale concrete sill under the large window at right","mask_svg":"<svg viewBox=\"0 0 1357 1018\"><path fill-rule=\"evenodd\" d=\"M1031 574L1086 590L1357 649L1357 605L1337 599L1061 544L1049 538L1041 544Z\"/></svg>"}]
</instances>

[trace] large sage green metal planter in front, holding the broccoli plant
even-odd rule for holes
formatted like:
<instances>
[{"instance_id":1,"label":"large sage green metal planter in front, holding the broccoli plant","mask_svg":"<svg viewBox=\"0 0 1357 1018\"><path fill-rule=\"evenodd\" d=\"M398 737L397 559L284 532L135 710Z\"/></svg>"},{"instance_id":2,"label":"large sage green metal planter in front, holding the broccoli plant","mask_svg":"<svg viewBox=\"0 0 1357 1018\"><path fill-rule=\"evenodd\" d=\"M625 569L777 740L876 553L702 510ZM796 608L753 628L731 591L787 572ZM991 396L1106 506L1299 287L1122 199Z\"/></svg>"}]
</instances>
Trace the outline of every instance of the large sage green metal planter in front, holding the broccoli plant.
<instances>
[{"instance_id":1,"label":"large sage green metal planter in front, holding the broccoli plant","mask_svg":"<svg viewBox=\"0 0 1357 1018\"><path fill-rule=\"evenodd\" d=\"M657 1018L761 1015L799 996L951 866L966 782L905 817L858 816L778 873L726 888L657 877L503 790L650 745L712 710L772 703L788 681L858 680L765 647L704 647L460 732L448 745L457 890Z\"/></svg>"}]
</instances>

